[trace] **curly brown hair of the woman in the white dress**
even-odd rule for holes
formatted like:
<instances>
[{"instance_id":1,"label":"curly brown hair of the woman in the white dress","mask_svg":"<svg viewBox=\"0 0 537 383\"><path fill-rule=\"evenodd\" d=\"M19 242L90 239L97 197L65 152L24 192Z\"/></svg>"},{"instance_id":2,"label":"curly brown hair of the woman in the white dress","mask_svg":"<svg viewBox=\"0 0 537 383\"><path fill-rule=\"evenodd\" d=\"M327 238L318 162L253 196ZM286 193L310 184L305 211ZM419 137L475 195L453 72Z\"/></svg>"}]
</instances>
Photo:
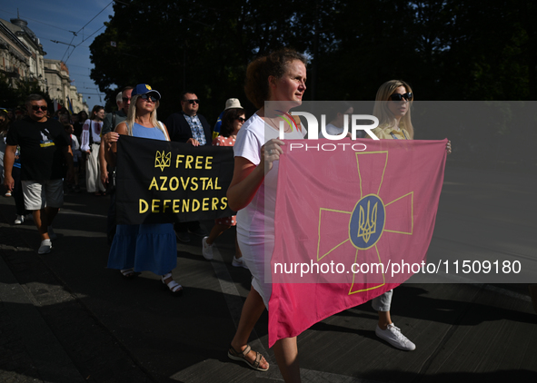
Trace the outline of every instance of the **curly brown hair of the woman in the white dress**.
<instances>
[{"instance_id":1,"label":"curly brown hair of the woman in the white dress","mask_svg":"<svg viewBox=\"0 0 537 383\"><path fill-rule=\"evenodd\" d=\"M285 74L287 64L294 60L301 61L307 66L305 56L289 48L258 57L248 64L244 92L256 108L263 107L264 102L270 98L269 76L281 78Z\"/></svg>"}]
</instances>

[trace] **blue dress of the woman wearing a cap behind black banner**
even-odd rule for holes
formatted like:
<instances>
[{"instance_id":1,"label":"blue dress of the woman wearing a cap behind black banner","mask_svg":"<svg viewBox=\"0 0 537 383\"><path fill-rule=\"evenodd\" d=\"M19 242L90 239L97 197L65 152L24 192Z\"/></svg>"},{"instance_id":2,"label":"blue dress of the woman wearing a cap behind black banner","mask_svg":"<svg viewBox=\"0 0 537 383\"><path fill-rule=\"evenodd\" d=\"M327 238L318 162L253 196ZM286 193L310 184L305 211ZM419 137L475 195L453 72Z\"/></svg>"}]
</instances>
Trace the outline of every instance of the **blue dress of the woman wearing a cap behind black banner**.
<instances>
[{"instance_id":1,"label":"blue dress of the woman wearing a cap behind black banner","mask_svg":"<svg viewBox=\"0 0 537 383\"><path fill-rule=\"evenodd\" d=\"M134 123L133 136L165 140L158 128ZM164 275L177 266L177 242L173 223L117 225L108 255L109 269L149 270Z\"/></svg>"}]
</instances>

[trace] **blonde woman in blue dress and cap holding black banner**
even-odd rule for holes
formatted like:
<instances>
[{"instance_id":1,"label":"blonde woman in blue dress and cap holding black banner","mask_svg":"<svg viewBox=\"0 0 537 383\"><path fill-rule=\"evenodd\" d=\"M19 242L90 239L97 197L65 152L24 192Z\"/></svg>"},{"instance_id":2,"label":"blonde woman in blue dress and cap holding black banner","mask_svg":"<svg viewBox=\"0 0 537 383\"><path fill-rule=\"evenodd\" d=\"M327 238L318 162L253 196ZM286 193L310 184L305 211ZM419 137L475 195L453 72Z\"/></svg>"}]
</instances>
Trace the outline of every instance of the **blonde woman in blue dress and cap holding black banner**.
<instances>
[{"instance_id":1,"label":"blonde woman in blue dress and cap holding black banner","mask_svg":"<svg viewBox=\"0 0 537 383\"><path fill-rule=\"evenodd\" d=\"M108 135L111 144L109 159L115 166L116 142L121 134L153 140L170 141L164 123L156 119L160 93L140 83L131 95L131 105L124 123ZM162 276L162 282L174 295L181 295L183 287L174 281L172 270L177 266L177 244L173 223L117 225L117 231L108 256L108 268L118 269L125 278L149 270Z\"/></svg>"}]
</instances>

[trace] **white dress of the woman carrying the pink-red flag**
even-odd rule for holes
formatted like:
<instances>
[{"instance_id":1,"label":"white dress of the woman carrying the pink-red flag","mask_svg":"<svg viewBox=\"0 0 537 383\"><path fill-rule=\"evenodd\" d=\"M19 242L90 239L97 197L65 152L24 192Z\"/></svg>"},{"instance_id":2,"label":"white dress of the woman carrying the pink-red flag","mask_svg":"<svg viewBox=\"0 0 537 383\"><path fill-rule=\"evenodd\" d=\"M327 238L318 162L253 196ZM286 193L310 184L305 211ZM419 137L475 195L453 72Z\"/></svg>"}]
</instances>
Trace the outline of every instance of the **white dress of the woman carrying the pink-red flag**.
<instances>
[{"instance_id":1,"label":"white dress of the woman carrying the pink-red flag","mask_svg":"<svg viewBox=\"0 0 537 383\"><path fill-rule=\"evenodd\" d=\"M306 134L297 132L285 133L285 140L303 139ZM261 162L261 147L265 142L279 137L279 132L254 113L237 134L234 145L235 157L244 157L258 165ZM237 231L249 238L250 244L264 242L265 232L274 231L274 207L276 201L276 182L278 179L279 161L273 162L273 169L264 177L264 182L255 193L254 199L241 211L237 212Z\"/></svg>"}]
</instances>

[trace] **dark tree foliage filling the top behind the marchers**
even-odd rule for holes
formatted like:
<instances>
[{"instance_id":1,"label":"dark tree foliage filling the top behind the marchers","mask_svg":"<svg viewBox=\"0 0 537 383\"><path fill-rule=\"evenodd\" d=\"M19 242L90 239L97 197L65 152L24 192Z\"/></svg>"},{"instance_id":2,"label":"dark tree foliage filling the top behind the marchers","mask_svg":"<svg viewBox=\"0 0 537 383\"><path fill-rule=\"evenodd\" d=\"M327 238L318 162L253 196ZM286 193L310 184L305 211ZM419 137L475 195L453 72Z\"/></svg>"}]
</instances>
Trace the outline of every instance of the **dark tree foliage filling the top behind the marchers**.
<instances>
[{"instance_id":1,"label":"dark tree foliage filling the top behind the marchers","mask_svg":"<svg viewBox=\"0 0 537 383\"><path fill-rule=\"evenodd\" d=\"M111 100L116 86L151 84L163 95L161 119L191 90L214 123L230 97L254 111L247 64L290 46L310 61L306 99L371 101L382 83L402 79L417 100L536 100L536 15L522 0L123 0L91 45L92 78ZM460 124L453 135L493 137L479 150L466 145L486 162L502 140L535 136L509 122Z\"/></svg>"}]
</instances>

